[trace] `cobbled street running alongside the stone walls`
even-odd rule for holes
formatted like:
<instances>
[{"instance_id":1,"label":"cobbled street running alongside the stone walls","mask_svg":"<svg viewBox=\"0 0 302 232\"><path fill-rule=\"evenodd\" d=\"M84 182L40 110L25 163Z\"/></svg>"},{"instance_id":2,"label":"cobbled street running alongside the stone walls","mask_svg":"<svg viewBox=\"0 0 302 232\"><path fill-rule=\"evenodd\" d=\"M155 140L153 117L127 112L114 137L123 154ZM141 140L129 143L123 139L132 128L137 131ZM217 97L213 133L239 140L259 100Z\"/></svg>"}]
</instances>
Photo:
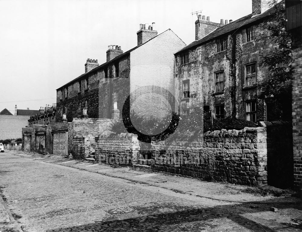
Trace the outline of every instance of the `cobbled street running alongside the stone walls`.
<instances>
[{"instance_id":1,"label":"cobbled street running alongside the stone walls","mask_svg":"<svg viewBox=\"0 0 302 232\"><path fill-rule=\"evenodd\" d=\"M100 167L109 170L110 166L81 163L87 168L75 168L66 160L13 151L0 154L0 192L4 200L0 205L1 232L302 230L301 205L294 198L251 196L258 203L213 200L196 196L196 189L191 191L194 194L184 194L95 172ZM121 170L116 168L114 172ZM143 175L138 178L154 174ZM169 179L175 177L165 178L162 185L169 186ZM180 180L185 180L177 184L180 189L196 181ZM207 182L199 183L206 188ZM213 185L217 189L220 186ZM228 192L224 194L227 198ZM271 211L271 207L278 211ZM15 226L14 230L8 230L9 226Z\"/></svg>"}]
</instances>

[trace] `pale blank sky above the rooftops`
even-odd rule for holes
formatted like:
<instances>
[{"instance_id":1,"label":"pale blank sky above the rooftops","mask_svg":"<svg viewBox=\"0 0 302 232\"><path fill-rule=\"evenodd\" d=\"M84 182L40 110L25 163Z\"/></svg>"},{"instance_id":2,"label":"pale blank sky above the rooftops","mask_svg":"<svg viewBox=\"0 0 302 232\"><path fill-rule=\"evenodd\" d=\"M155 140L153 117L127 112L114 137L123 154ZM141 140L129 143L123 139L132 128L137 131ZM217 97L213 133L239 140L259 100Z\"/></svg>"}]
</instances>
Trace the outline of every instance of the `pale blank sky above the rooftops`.
<instances>
[{"instance_id":1,"label":"pale blank sky above the rooftops","mask_svg":"<svg viewBox=\"0 0 302 232\"><path fill-rule=\"evenodd\" d=\"M236 20L252 13L252 0L0 1L0 111L56 103L56 89L83 74L87 58L102 64L108 45L135 47L140 23L193 42L191 12L200 10L213 22Z\"/></svg>"}]
</instances>

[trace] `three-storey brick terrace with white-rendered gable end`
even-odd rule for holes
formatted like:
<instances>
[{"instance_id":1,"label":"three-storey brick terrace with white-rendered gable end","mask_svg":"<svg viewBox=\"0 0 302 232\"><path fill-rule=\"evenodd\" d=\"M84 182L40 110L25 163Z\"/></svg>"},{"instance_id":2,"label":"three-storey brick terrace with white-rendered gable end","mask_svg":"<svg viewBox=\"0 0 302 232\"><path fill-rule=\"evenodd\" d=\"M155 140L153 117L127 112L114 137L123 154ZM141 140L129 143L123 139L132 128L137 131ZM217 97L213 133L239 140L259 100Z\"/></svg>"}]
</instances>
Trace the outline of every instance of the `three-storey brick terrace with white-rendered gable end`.
<instances>
[{"instance_id":1,"label":"three-storey brick terrace with white-rendered gable end","mask_svg":"<svg viewBox=\"0 0 302 232\"><path fill-rule=\"evenodd\" d=\"M154 84L174 88L174 53L184 46L172 30L157 35L154 23L140 24L136 47L123 52L120 46L108 46L106 63L87 59L85 73L56 90L57 121L63 114L68 122L81 115L113 118L114 102L121 115L130 91Z\"/></svg>"}]
</instances>

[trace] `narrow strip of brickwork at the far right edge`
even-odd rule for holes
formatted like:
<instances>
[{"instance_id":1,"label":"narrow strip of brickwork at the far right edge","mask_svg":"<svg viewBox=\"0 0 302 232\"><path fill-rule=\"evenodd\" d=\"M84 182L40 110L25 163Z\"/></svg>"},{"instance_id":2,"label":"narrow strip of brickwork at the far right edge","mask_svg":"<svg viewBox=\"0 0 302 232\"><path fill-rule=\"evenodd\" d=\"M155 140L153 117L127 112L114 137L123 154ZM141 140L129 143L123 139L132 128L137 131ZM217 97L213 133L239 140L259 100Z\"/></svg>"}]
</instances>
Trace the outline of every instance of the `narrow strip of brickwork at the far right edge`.
<instances>
[{"instance_id":1,"label":"narrow strip of brickwork at the far right edge","mask_svg":"<svg viewBox=\"0 0 302 232\"><path fill-rule=\"evenodd\" d=\"M302 192L302 36L292 40L292 120L294 189Z\"/></svg>"}]
</instances>

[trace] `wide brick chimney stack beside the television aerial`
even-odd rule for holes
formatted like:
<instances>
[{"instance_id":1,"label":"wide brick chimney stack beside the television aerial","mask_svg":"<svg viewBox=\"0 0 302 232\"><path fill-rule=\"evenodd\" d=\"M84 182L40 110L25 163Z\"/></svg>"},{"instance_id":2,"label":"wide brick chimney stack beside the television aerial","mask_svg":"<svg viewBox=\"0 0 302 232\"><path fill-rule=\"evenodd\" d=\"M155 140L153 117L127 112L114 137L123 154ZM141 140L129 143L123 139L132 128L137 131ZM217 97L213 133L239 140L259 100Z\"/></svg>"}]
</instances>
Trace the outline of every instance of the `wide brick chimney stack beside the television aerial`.
<instances>
[{"instance_id":1,"label":"wide brick chimney stack beside the television aerial","mask_svg":"<svg viewBox=\"0 0 302 232\"><path fill-rule=\"evenodd\" d=\"M198 15L198 20L195 21L195 40L200 40L216 28L224 25L223 19L220 20L220 23L213 23L210 21L209 16L207 16L207 20L205 20L205 18L205 15L202 17L201 15Z\"/></svg>"}]
</instances>

